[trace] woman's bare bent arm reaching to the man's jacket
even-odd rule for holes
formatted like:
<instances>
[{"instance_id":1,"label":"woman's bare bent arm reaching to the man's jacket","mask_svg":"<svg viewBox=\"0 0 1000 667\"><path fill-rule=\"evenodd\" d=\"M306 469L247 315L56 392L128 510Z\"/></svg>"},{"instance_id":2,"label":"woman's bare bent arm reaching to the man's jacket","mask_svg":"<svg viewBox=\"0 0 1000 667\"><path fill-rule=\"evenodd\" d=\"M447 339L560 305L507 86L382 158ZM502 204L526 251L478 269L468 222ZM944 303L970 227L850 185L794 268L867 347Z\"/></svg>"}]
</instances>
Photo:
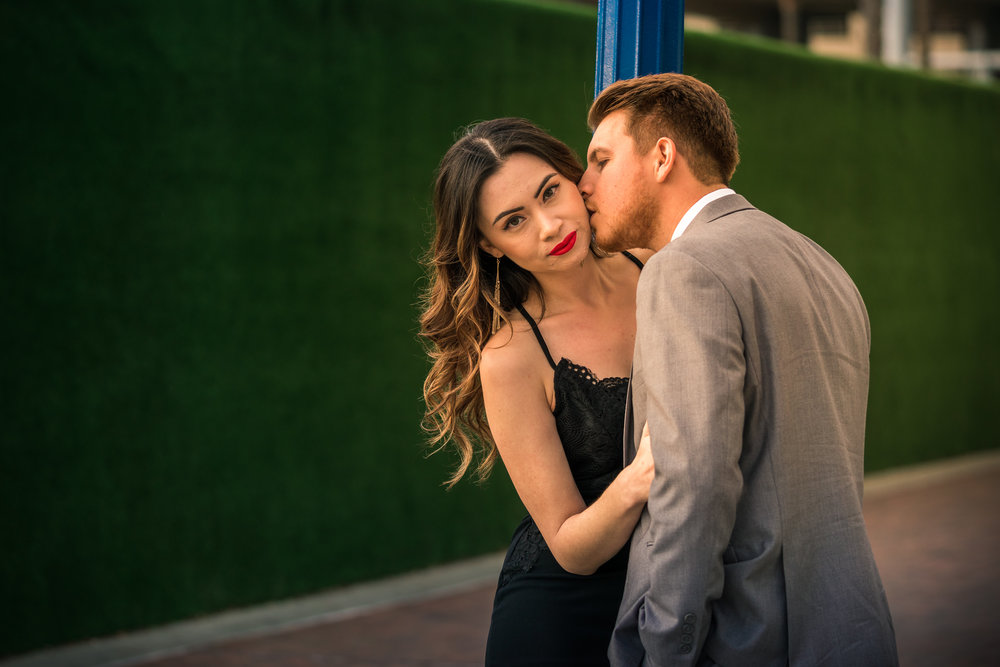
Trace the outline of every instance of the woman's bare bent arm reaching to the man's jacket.
<instances>
[{"instance_id":1,"label":"woman's bare bent arm reaching to the man's jacket","mask_svg":"<svg viewBox=\"0 0 1000 667\"><path fill-rule=\"evenodd\" d=\"M556 561L568 572L591 574L618 553L639 520L653 479L648 437L635 461L586 506L556 431L540 365L517 347L483 353L480 379L490 431Z\"/></svg>"}]
</instances>

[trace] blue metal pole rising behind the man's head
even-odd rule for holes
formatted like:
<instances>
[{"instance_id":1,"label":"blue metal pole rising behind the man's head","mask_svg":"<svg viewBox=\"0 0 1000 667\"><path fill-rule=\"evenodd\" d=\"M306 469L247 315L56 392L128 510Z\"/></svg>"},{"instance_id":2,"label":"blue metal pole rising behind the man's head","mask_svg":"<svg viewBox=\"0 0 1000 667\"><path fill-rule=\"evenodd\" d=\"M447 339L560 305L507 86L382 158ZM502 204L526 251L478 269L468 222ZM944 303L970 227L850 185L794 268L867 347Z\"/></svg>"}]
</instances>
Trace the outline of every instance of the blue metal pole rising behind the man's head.
<instances>
[{"instance_id":1,"label":"blue metal pole rising behind the man's head","mask_svg":"<svg viewBox=\"0 0 1000 667\"><path fill-rule=\"evenodd\" d=\"M619 79L680 72L684 0L600 0L594 95Z\"/></svg>"}]
</instances>

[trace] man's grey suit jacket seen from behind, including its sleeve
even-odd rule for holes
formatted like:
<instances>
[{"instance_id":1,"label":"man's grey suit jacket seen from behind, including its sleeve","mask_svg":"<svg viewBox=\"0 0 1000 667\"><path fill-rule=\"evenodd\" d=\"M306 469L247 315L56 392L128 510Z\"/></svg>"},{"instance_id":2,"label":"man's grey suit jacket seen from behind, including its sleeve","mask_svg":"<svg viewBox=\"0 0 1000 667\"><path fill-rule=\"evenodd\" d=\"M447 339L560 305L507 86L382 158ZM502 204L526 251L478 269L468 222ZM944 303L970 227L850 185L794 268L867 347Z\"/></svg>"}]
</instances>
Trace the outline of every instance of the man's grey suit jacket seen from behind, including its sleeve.
<instances>
[{"instance_id":1,"label":"man's grey suit jacket seen from behind, including its sleeve","mask_svg":"<svg viewBox=\"0 0 1000 667\"><path fill-rule=\"evenodd\" d=\"M846 272L729 196L650 260L638 301L635 423L664 444L622 611L641 605L650 659L689 664L692 637L702 664L895 664L861 514L868 318Z\"/></svg>"}]
</instances>

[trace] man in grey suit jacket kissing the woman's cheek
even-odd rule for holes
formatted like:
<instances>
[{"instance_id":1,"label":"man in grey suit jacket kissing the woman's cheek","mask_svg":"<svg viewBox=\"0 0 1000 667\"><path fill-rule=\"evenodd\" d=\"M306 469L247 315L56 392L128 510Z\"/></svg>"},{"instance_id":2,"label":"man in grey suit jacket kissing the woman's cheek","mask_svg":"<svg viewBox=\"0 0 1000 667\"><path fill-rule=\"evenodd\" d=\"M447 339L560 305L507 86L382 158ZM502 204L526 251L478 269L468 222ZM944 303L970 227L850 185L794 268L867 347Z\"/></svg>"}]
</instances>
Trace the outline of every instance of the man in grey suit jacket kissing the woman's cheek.
<instances>
[{"instance_id":1,"label":"man in grey suit jacket kissing the woman's cheek","mask_svg":"<svg viewBox=\"0 0 1000 667\"><path fill-rule=\"evenodd\" d=\"M580 190L637 293L626 462L656 474L613 665L898 663L861 513L870 330L816 243L727 187L723 99L681 74L609 86Z\"/></svg>"}]
</instances>

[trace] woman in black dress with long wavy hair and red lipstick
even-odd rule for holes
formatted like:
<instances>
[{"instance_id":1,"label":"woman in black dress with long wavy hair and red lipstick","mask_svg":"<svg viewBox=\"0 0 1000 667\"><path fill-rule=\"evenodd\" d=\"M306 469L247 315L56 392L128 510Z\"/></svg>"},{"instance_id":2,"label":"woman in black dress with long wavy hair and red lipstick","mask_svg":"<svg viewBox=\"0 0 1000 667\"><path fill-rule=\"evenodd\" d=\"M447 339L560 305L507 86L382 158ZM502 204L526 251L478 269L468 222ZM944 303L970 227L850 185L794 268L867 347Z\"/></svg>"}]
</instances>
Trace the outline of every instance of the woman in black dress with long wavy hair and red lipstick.
<instances>
[{"instance_id":1,"label":"woman in black dress with long wavy hair and red lipstick","mask_svg":"<svg viewBox=\"0 0 1000 667\"><path fill-rule=\"evenodd\" d=\"M501 118L466 131L435 185L425 427L438 449L458 449L452 485L477 458L484 479L499 455L528 510L501 569L487 664L608 664L625 546L653 475L648 442L622 468L648 253L591 247L582 173L565 144Z\"/></svg>"}]
</instances>

